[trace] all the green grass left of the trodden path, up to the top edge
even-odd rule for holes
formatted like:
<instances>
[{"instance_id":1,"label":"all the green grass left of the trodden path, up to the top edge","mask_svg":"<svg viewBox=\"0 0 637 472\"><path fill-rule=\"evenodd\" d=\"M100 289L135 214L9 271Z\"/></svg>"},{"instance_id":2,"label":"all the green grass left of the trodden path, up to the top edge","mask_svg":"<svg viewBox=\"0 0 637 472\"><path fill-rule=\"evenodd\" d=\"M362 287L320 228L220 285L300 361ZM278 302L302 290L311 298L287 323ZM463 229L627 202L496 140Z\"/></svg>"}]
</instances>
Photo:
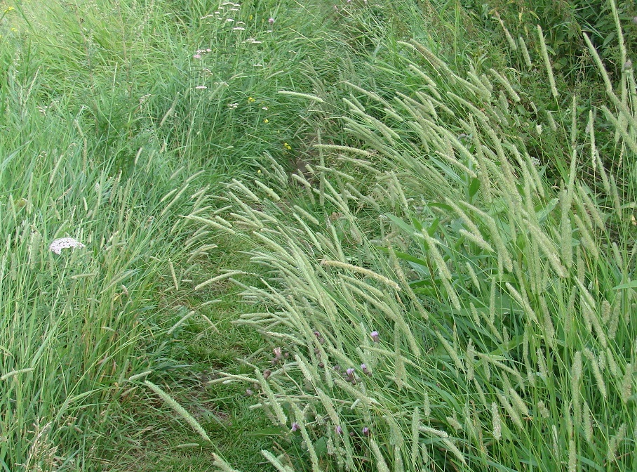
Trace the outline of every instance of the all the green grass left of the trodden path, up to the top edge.
<instances>
[{"instance_id":1,"label":"all the green grass left of the trodden path, up to the top edge","mask_svg":"<svg viewBox=\"0 0 637 472\"><path fill-rule=\"evenodd\" d=\"M349 46L331 5L222 3L3 6L4 470L91 470L120 452L130 402L165 391L168 347L198 315L165 308L210 263L217 240L196 228L215 219L217 181L253 175L263 152L293 166L308 107L278 92L336 88ZM58 237L85 247L53 254Z\"/></svg>"}]
</instances>

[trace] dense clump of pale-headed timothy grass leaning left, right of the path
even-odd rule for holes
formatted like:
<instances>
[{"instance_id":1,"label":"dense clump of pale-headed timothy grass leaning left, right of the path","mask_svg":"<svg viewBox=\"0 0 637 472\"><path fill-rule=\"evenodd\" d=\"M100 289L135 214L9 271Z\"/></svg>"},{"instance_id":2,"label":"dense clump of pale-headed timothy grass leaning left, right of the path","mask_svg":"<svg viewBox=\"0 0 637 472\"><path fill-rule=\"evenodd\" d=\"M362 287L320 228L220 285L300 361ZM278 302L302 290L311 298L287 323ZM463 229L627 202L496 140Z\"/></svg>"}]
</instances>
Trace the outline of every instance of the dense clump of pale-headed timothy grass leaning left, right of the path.
<instances>
[{"instance_id":1,"label":"dense clump of pale-headed timothy grass leaning left, right of the path","mask_svg":"<svg viewBox=\"0 0 637 472\"><path fill-rule=\"evenodd\" d=\"M257 185L229 184L227 227L257 242L267 274L237 281L258 307L241 322L274 357L220 381L260 385L255 406L305 451L301 470L637 467L632 69L615 85L596 61L611 173L577 96L554 88L561 111L534 117L524 71L459 74L401 47L399 93L345 100L358 145L319 141L304 173L272 160ZM527 137L549 129L563 138L531 154ZM307 198L281 203L288 185Z\"/></svg>"}]
</instances>

